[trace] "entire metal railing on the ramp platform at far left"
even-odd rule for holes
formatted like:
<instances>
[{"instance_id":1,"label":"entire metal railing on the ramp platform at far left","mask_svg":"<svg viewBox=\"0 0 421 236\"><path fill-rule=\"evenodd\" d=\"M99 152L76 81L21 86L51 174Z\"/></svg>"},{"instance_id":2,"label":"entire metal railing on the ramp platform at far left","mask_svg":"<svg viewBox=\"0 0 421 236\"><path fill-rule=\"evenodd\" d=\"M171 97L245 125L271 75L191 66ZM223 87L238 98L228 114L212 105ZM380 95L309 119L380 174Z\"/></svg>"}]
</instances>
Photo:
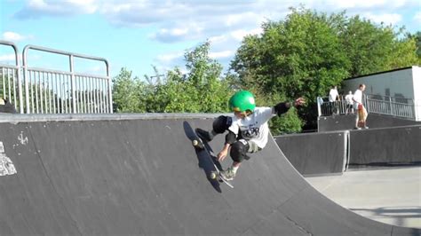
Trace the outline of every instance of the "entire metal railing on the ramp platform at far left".
<instances>
[{"instance_id":1,"label":"entire metal railing on the ramp platform at far left","mask_svg":"<svg viewBox=\"0 0 421 236\"><path fill-rule=\"evenodd\" d=\"M68 51L28 45L22 52L23 65L19 65L19 51L12 46L16 66L0 64L3 98L8 98L20 114L112 114L113 99L107 59ZM44 51L68 57L68 71L29 67L28 51ZM107 75L76 73L74 59L104 62Z\"/></svg>"}]
</instances>

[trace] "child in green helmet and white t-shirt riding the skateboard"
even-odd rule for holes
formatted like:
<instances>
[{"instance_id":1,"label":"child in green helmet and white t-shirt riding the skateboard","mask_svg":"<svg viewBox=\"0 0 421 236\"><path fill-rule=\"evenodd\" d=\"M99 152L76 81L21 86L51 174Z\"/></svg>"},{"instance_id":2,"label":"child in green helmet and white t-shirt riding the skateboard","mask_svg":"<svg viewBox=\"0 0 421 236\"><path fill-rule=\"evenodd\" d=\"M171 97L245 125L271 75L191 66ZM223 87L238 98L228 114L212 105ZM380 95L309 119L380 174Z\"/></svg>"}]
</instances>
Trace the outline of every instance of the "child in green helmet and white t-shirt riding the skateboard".
<instances>
[{"instance_id":1,"label":"child in green helmet and white t-shirt riding the skateboard","mask_svg":"<svg viewBox=\"0 0 421 236\"><path fill-rule=\"evenodd\" d=\"M301 106L304 98L297 98L293 102L279 103L273 107L256 107L253 94L248 90L237 91L230 99L229 106L234 116L219 116L212 124L212 130L196 129L200 138L211 141L215 135L226 130L226 142L218 153L218 161L223 161L230 153L233 164L221 175L227 180L235 177L243 160L249 160L247 153L256 153L267 144L269 126L267 122L276 114L286 113L290 106Z\"/></svg>"}]
</instances>

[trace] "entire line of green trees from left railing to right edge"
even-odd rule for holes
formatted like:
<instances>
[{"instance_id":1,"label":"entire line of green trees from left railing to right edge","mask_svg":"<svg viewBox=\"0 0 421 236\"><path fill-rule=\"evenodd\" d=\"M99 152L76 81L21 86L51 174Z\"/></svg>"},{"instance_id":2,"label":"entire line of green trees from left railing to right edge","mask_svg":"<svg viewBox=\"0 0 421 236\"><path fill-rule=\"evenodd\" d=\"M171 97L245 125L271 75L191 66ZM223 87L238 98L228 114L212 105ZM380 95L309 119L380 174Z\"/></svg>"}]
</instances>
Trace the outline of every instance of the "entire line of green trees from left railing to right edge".
<instances>
[{"instance_id":1,"label":"entire line of green trees from left railing to right edge","mask_svg":"<svg viewBox=\"0 0 421 236\"><path fill-rule=\"evenodd\" d=\"M316 97L349 77L410 67L421 63L421 32L375 24L346 12L315 12L290 8L284 20L262 24L260 35L247 35L226 74L211 59L210 42L186 51L185 70L143 79L127 68L113 78L117 113L224 113L236 90L250 90L258 106L303 96L307 105L270 127L276 134L315 129ZM186 71L182 73L182 71ZM154 78L159 78L155 79Z\"/></svg>"}]
</instances>

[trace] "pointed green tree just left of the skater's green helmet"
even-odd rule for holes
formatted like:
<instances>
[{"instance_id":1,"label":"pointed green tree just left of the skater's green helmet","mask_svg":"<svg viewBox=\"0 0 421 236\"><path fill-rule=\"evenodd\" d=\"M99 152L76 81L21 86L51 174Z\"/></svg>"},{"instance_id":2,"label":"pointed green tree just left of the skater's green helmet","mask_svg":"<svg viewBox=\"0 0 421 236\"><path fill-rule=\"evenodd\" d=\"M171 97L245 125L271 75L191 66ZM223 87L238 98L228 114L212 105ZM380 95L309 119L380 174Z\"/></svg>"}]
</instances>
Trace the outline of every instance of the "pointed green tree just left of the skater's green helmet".
<instances>
[{"instance_id":1,"label":"pointed green tree just left of the skater's green helmet","mask_svg":"<svg viewBox=\"0 0 421 236\"><path fill-rule=\"evenodd\" d=\"M167 80L157 92L162 112L226 112L231 93L222 78L222 66L209 57L211 44L205 42L186 51L186 74L176 67L167 73Z\"/></svg>"}]
</instances>

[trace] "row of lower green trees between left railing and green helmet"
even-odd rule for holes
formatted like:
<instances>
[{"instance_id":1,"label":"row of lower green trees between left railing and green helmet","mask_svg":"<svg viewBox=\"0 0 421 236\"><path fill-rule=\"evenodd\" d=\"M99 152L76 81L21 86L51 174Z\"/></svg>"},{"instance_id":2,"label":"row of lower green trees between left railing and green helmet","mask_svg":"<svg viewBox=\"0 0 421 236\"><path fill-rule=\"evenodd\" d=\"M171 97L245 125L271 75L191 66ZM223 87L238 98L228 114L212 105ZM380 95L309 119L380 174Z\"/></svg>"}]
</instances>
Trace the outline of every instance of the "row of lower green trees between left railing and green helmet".
<instances>
[{"instance_id":1,"label":"row of lower green trees between left railing and green helmet","mask_svg":"<svg viewBox=\"0 0 421 236\"><path fill-rule=\"evenodd\" d=\"M132 78L123 68L113 80L116 112L226 112L232 90L221 76L222 66L209 57L209 50L210 43L206 42L186 51L186 73L175 67L163 76L155 68L154 76L145 76L148 83Z\"/></svg>"}]
</instances>

